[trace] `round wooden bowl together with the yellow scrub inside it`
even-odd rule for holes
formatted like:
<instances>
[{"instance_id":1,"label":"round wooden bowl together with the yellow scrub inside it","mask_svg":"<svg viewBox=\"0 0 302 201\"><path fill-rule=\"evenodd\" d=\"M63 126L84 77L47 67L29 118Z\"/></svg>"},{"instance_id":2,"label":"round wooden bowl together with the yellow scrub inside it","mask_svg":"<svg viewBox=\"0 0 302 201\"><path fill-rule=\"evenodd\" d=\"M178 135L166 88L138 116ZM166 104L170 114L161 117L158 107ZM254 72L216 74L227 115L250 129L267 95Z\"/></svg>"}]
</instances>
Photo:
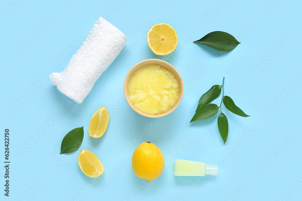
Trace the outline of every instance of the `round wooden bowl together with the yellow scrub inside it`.
<instances>
[{"instance_id":1,"label":"round wooden bowl together with the yellow scrub inside it","mask_svg":"<svg viewBox=\"0 0 302 201\"><path fill-rule=\"evenodd\" d=\"M184 84L178 71L168 62L147 59L135 64L124 82L124 94L130 107L145 117L170 114L179 105Z\"/></svg>"}]
</instances>

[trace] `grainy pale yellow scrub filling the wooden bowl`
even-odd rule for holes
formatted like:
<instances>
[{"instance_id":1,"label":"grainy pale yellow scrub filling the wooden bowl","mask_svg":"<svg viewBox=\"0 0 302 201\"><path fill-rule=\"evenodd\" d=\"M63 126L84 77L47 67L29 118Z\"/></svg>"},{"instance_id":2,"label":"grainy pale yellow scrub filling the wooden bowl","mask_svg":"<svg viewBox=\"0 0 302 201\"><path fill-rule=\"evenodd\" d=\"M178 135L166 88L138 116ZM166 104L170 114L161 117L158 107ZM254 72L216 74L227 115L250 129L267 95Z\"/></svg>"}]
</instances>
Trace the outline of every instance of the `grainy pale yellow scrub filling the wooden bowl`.
<instances>
[{"instance_id":1,"label":"grainy pale yellow scrub filling the wooden bowl","mask_svg":"<svg viewBox=\"0 0 302 201\"><path fill-rule=\"evenodd\" d=\"M157 64L147 64L131 75L128 95L135 108L148 115L159 115L171 109L178 100L175 75Z\"/></svg>"}]
</instances>

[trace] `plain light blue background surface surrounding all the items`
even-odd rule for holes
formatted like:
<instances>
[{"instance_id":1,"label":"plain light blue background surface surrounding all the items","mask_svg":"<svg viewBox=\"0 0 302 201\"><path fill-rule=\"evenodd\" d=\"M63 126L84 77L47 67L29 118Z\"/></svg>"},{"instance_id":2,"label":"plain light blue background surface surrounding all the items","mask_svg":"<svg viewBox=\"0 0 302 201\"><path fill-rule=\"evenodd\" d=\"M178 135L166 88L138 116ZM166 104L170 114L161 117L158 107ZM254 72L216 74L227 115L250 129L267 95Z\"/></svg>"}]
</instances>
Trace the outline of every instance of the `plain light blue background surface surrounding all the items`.
<instances>
[{"instance_id":1,"label":"plain light blue background surface surrounding all the items","mask_svg":"<svg viewBox=\"0 0 302 201\"><path fill-rule=\"evenodd\" d=\"M1 10L9 11L0 14L0 118L2 134L10 130L11 164L9 198L3 195L4 168L0 168L1 200L279 200L287 193L286 199L300 200L302 84L297 78L302 75L302 3L274 3L268 9L268 0L32 0L9 9L12 1L2 1ZM84 102L77 104L60 93L48 76L64 70L79 49L76 41L82 43L81 37L88 35L100 16L127 36L127 45ZM48 24L40 28L44 20ZM154 55L146 42L147 30L160 22L172 25L179 38L175 52L166 57ZM192 43L217 30L232 34L241 44L225 54ZM31 36L34 40L17 52ZM123 93L129 69L149 58L171 63L185 85L178 108L157 119L134 112ZM222 107L230 128L226 144L217 127L218 114L189 124L201 95L212 85L221 85L223 77L225 95L251 115L239 117ZM213 103L220 104L221 96ZM109 126L103 137L93 139L88 136L88 123L102 105L110 111ZM15 108L7 113L11 106ZM146 133L148 124L152 129ZM80 148L59 155L65 134L82 126ZM292 142L286 143L287 139ZM149 183L131 167L134 149L147 140L161 149L166 162L161 176ZM4 161L3 136L0 142L0 161ZM102 177L94 180L80 171L81 149L98 156L104 165ZM175 177L175 159L218 165L218 175Z\"/></svg>"}]
</instances>

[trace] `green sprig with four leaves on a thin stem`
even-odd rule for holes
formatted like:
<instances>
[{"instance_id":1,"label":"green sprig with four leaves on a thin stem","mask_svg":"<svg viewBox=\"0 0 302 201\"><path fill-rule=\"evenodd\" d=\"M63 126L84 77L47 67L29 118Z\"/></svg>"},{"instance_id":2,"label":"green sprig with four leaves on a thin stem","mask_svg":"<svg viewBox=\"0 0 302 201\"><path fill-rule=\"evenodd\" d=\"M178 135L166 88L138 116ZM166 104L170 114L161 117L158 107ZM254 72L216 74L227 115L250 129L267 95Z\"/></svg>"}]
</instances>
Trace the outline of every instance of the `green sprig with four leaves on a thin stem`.
<instances>
[{"instance_id":1,"label":"green sprig with four leaves on a thin stem","mask_svg":"<svg viewBox=\"0 0 302 201\"><path fill-rule=\"evenodd\" d=\"M218 96L221 93L221 88L222 88L222 99L220 102L220 106L218 107L216 104L212 104L212 103L209 104L210 102L218 98ZM218 116L218 120L217 120L218 129L223 142L226 143L229 133L229 123L226 118L226 115L222 113L221 110L222 102L226 107L226 109L233 112L234 114L242 117L249 117L249 115L246 115L239 107L235 105L231 97L224 96L224 77L223 77L222 85L212 86L210 90L208 90L206 93L204 93L204 95L201 96L195 114L190 121L190 124L193 121L203 120L214 116L219 111L220 108L220 115Z\"/></svg>"}]
</instances>

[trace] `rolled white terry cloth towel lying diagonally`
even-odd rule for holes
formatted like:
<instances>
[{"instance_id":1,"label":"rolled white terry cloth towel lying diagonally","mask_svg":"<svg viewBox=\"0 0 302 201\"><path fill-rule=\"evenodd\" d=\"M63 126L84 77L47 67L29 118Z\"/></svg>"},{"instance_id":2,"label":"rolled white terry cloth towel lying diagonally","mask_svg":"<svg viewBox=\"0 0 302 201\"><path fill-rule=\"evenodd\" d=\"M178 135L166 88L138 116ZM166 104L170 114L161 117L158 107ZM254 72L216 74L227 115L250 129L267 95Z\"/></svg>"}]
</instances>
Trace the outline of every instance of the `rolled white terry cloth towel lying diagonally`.
<instances>
[{"instance_id":1,"label":"rolled white terry cloth towel lying diagonally","mask_svg":"<svg viewBox=\"0 0 302 201\"><path fill-rule=\"evenodd\" d=\"M82 103L126 41L124 33L100 17L64 71L52 73L50 81L60 92Z\"/></svg>"}]
</instances>

